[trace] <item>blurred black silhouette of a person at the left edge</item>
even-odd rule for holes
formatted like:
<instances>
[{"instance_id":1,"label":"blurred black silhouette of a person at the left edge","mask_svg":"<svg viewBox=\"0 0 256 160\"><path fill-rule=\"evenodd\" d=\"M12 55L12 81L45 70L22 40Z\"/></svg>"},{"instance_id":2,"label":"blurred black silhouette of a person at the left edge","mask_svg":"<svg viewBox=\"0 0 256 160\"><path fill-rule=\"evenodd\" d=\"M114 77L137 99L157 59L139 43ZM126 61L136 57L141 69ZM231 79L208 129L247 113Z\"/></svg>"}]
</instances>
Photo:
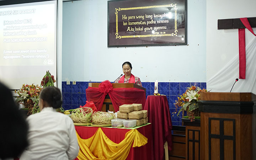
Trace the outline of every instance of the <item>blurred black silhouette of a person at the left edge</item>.
<instances>
[{"instance_id":1,"label":"blurred black silhouette of a person at the left edge","mask_svg":"<svg viewBox=\"0 0 256 160\"><path fill-rule=\"evenodd\" d=\"M0 83L0 159L17 157L27 147L28 125L12 97L10 89Z\"/></svg>"}]
</instances>

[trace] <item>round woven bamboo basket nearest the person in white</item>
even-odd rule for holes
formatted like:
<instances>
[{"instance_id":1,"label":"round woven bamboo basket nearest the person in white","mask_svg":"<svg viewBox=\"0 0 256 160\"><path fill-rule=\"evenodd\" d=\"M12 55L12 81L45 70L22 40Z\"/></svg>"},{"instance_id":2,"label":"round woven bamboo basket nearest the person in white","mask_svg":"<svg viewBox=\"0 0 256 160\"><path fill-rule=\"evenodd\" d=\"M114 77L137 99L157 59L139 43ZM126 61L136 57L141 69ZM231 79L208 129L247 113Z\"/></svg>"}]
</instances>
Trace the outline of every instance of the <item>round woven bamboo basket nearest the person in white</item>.
<instances>
[{"instance_id":1,"label":"round woven bamboo basket nearest the person in white","mask_svg":"<svg viewBox=\"0 0 256 160\"><path fill-rule=\"evenodd\" d=\"M91 123L92 108L76 108L71 112L70 118L74 123Z\"/></svg>"}]
</instances>

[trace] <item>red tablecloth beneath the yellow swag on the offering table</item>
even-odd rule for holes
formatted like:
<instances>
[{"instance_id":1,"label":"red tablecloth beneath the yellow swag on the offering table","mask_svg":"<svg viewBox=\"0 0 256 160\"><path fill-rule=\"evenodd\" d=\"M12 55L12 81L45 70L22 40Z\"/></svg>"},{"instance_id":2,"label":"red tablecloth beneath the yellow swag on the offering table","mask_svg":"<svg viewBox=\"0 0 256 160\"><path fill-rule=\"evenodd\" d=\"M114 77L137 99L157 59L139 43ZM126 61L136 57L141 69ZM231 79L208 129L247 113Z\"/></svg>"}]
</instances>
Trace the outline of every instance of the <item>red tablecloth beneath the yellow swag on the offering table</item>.
<instances>
[{"instance_id":1,"label":"red tablecloth beneath the yellow swag on the offering table","mask_svg":"<svg viewBox=\"0 0 256 160\"><path fill-rule=\"evenodd\" d=\"M87 139L95 134L98 127L75 126L76 132L82 139ZM101 127L106 136L114 143L120 143L130 129ZM152 127L151 124L137 128L137 130L148 138L148 143L140 147L131 147L127 160L153 160ZM78 160L76 158L76 160Z\"/></svg>"}]
</instances>

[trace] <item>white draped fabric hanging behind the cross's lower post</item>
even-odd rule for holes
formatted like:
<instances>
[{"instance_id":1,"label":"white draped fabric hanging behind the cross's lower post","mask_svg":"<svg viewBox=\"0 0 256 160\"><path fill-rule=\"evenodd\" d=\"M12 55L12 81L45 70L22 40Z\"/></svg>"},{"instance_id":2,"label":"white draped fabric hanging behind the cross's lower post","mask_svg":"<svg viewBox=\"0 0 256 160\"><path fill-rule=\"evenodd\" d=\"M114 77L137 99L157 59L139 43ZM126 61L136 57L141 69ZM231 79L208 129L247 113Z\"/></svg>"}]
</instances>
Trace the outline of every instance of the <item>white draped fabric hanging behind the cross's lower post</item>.
<instances>
[{"instance_id":1,"label":"white draped fabric hanging behind the cross's lower post","mask_svg":"<svg viewBox=\"0 0 256 160\"><path fill-rule=\"evenodd\" d=\"M256 94L256 38L245 47L245 52L245 79L239 79L231 92L252 92ZM236 78L239 78L239 54L207 81L207 90L212 90L211 92L230 92Z\"/></svg>"}]
</instances>

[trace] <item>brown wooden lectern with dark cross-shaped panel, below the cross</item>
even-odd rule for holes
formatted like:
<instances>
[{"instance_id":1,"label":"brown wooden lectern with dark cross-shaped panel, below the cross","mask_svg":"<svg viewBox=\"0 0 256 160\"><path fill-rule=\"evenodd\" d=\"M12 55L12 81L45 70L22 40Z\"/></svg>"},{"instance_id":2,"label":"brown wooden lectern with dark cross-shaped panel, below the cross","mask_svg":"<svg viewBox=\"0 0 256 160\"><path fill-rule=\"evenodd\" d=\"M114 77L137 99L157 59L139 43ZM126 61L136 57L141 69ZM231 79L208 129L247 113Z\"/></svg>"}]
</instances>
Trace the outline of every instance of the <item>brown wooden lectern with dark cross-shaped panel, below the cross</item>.
<instances>
[{"instance_id":1,"label":"brown wooden lectern with dark cross-shaped panel, below the cross","mask_svg":"<svg viewBox=\"0 0 256 160\"><path fill-rule=\"evenodd\" d=\"M256 160L256 95L201 92L201 159Z\"/></svg>"}]
</instances>

